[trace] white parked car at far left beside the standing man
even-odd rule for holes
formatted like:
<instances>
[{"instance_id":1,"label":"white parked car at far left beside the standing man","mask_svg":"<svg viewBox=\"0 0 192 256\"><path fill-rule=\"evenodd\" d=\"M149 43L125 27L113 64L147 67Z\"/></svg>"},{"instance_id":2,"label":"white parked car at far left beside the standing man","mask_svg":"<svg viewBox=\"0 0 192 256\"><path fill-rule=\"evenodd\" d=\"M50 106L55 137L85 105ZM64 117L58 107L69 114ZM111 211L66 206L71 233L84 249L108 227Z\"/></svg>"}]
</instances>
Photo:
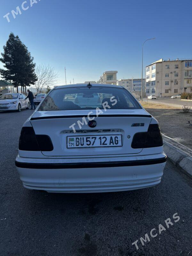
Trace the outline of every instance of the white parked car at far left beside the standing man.
<instances>
[{"instance_id":1,"label":"white parked car at far left beside the standing man","mask_svg":"<svg viewBox=\"0 0 192 256\"><path fill-rule=\"evenodd\" d=\"M29 99L22 93L5 93L0 96L0 110L17 110L29 109Z\"/></svg>"}]
</instances>

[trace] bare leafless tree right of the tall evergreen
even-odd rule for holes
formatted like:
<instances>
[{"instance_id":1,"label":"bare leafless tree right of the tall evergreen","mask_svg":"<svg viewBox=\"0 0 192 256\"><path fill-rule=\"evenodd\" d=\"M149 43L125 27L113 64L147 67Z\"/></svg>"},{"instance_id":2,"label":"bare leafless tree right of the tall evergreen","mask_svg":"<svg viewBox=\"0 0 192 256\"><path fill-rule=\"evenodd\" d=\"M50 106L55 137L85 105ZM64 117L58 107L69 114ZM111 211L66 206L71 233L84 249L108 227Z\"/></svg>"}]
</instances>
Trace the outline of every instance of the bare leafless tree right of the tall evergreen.
<instances>
[{"instance_id":1,"label":"bare leafless tree right of the tall evergreen","mask_svg":"<svg viewBox=\"0 0 192 256\"><path fill-rule=\"evenodd\" d=\"M41 91L45 90L47 86L52 87L58 82L58 73L49 65L38 65L35 71L38 79L35 82L37 93L41 93Z\"/></svg>"}]
</instances>

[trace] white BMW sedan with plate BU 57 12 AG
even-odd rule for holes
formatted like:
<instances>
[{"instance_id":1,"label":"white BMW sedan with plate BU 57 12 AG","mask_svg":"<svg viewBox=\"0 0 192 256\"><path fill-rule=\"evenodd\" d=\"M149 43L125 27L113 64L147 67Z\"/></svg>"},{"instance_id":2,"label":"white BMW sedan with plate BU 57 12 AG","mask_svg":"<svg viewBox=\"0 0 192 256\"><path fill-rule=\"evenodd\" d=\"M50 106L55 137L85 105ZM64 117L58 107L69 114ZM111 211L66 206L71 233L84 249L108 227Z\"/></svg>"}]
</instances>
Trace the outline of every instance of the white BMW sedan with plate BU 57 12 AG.
<instances>
[{"instance_id":1,"label":"white BMW sedan with plate BU 57 12 AG","mask_svg":"<svg viewBox=\"0 0 192 256\"><path fill-rule=\"evenodd\" d=\"M90 106L94 93L101 101ZM157 120L126 89L108 84L52 89L24 123L15 160L25 188L61 193L155 186L165 163Z\"/></svg>"}]
</instances>

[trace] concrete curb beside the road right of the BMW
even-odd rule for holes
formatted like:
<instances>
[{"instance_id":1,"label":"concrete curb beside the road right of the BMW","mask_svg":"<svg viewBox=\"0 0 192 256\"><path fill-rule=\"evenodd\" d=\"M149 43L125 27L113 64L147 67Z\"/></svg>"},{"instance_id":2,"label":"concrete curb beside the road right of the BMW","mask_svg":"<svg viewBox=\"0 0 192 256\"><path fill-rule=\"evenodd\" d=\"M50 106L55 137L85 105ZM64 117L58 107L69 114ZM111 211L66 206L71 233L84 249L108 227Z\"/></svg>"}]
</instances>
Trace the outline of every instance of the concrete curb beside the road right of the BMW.
<instances>
[{"instance_id":1,"label":"concrete curb beside the road right of the BMW","mask_svg":"<svg viewBox=\"0 0 192 256\"><path fill-rule=\"evenodd\" d=\"M192 149L162 134L164 152L171 162L192 178Z\"/></svg>"}]
</instances>

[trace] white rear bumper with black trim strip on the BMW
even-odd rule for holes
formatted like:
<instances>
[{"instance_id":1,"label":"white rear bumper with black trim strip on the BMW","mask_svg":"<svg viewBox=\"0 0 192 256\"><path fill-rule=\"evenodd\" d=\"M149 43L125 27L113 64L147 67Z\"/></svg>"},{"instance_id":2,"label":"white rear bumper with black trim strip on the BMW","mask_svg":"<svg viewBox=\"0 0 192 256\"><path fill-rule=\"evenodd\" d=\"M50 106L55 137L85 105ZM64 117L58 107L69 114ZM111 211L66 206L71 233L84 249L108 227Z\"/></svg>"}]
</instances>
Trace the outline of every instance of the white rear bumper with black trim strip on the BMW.
<instances>
[{"instance_id":1,"label":"white rear bumper with black trim strip on the BMW","mask_svg":"<svg viewBox=\"0 0 192 256\"><path fill-rule=\"evenodd\" d=\"M86 162L83 159L70 159L70 162L66 159L44 159L44 163L38 163L37 159L18 156L15 164L25 188L47 192L124 191L147 188L161 182L166 162L164 153L127 158L121 161L86 159Z\"/></svg>"}]
</instances>

